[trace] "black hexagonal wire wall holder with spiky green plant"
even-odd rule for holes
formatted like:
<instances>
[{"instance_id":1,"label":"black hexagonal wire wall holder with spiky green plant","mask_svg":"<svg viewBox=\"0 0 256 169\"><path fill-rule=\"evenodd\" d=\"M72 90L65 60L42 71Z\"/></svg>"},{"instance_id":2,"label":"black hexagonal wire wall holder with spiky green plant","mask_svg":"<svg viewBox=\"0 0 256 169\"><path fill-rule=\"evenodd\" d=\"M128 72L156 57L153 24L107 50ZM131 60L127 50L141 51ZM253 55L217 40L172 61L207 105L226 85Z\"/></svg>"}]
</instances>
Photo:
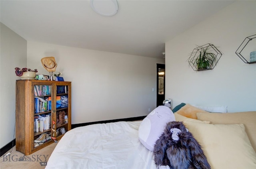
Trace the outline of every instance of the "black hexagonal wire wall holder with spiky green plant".
<instances>
[{"instance_id":1,"label":"black hexagonal wire wall holder with spiky green plant","mask_svg":"<svg viewBox=\"0 0 256 169\"><path fill-rule=\"evenodd\" d=\"M222 53L214 45L207 43L196 47L188 58L189 66L194 71L205 71L214 69Z\"/></svg>"}]
</instances>

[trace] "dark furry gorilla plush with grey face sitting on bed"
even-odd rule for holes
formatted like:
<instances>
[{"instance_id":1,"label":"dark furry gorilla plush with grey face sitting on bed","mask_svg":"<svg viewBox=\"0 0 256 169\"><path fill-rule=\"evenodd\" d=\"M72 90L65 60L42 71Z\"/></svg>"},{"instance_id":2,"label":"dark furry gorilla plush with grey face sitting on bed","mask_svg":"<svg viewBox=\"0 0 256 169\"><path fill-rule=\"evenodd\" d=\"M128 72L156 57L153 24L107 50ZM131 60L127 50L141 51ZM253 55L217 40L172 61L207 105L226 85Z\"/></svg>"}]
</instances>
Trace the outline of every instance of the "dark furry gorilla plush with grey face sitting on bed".
<instances>
[{"instance_id":1,"label":"dark furry gorilla plush with grey face sitting on bed","mask_svg":"<svg viewBox=\"0 0 256 169\"><path fill-rule=\"evenodd\" d=\"M154 146L157 169L210 169L204 151L182 122L168 122Z\"/></svg>"}]
</instances>

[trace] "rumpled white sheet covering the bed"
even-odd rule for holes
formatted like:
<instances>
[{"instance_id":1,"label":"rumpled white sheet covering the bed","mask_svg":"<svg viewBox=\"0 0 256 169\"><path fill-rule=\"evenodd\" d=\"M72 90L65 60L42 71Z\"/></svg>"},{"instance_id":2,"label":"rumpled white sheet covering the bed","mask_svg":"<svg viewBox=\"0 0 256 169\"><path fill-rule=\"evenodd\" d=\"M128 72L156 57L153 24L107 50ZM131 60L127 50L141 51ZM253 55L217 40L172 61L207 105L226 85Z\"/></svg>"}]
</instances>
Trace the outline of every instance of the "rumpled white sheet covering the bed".
<instances>
[{"instance_id":1,"label":"rumpled white sheet covering the bed","mask_svg":"<svg viewBox=\"0 0 256 169\"><path fill-rule=\"evenodd\" d=\"M56 145L46 169L156 169L153 152L139 141L140 123L74 128Z\"/></svg>"}]
</instances>

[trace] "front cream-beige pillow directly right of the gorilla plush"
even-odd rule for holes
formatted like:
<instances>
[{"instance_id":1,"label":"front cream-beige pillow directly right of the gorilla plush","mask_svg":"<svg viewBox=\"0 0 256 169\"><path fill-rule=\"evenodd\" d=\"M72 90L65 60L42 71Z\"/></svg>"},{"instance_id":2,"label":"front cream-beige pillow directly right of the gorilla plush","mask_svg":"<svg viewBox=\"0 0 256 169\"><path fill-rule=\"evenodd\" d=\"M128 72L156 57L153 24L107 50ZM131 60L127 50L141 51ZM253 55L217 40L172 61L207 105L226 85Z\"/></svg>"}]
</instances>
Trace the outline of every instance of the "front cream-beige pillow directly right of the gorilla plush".
<instances>
[{"instance_id":1,"label":"front cream-beige pillow directly right of the gorilla plush","mask_svg":"<svg viewBox=\"0 0 256 169\"><path fill-rule=\"evenodd\" d=\"M256 153L243 124L184 121L200 143L212 169L256 169Z\"/></svg>"}]
</instances>

